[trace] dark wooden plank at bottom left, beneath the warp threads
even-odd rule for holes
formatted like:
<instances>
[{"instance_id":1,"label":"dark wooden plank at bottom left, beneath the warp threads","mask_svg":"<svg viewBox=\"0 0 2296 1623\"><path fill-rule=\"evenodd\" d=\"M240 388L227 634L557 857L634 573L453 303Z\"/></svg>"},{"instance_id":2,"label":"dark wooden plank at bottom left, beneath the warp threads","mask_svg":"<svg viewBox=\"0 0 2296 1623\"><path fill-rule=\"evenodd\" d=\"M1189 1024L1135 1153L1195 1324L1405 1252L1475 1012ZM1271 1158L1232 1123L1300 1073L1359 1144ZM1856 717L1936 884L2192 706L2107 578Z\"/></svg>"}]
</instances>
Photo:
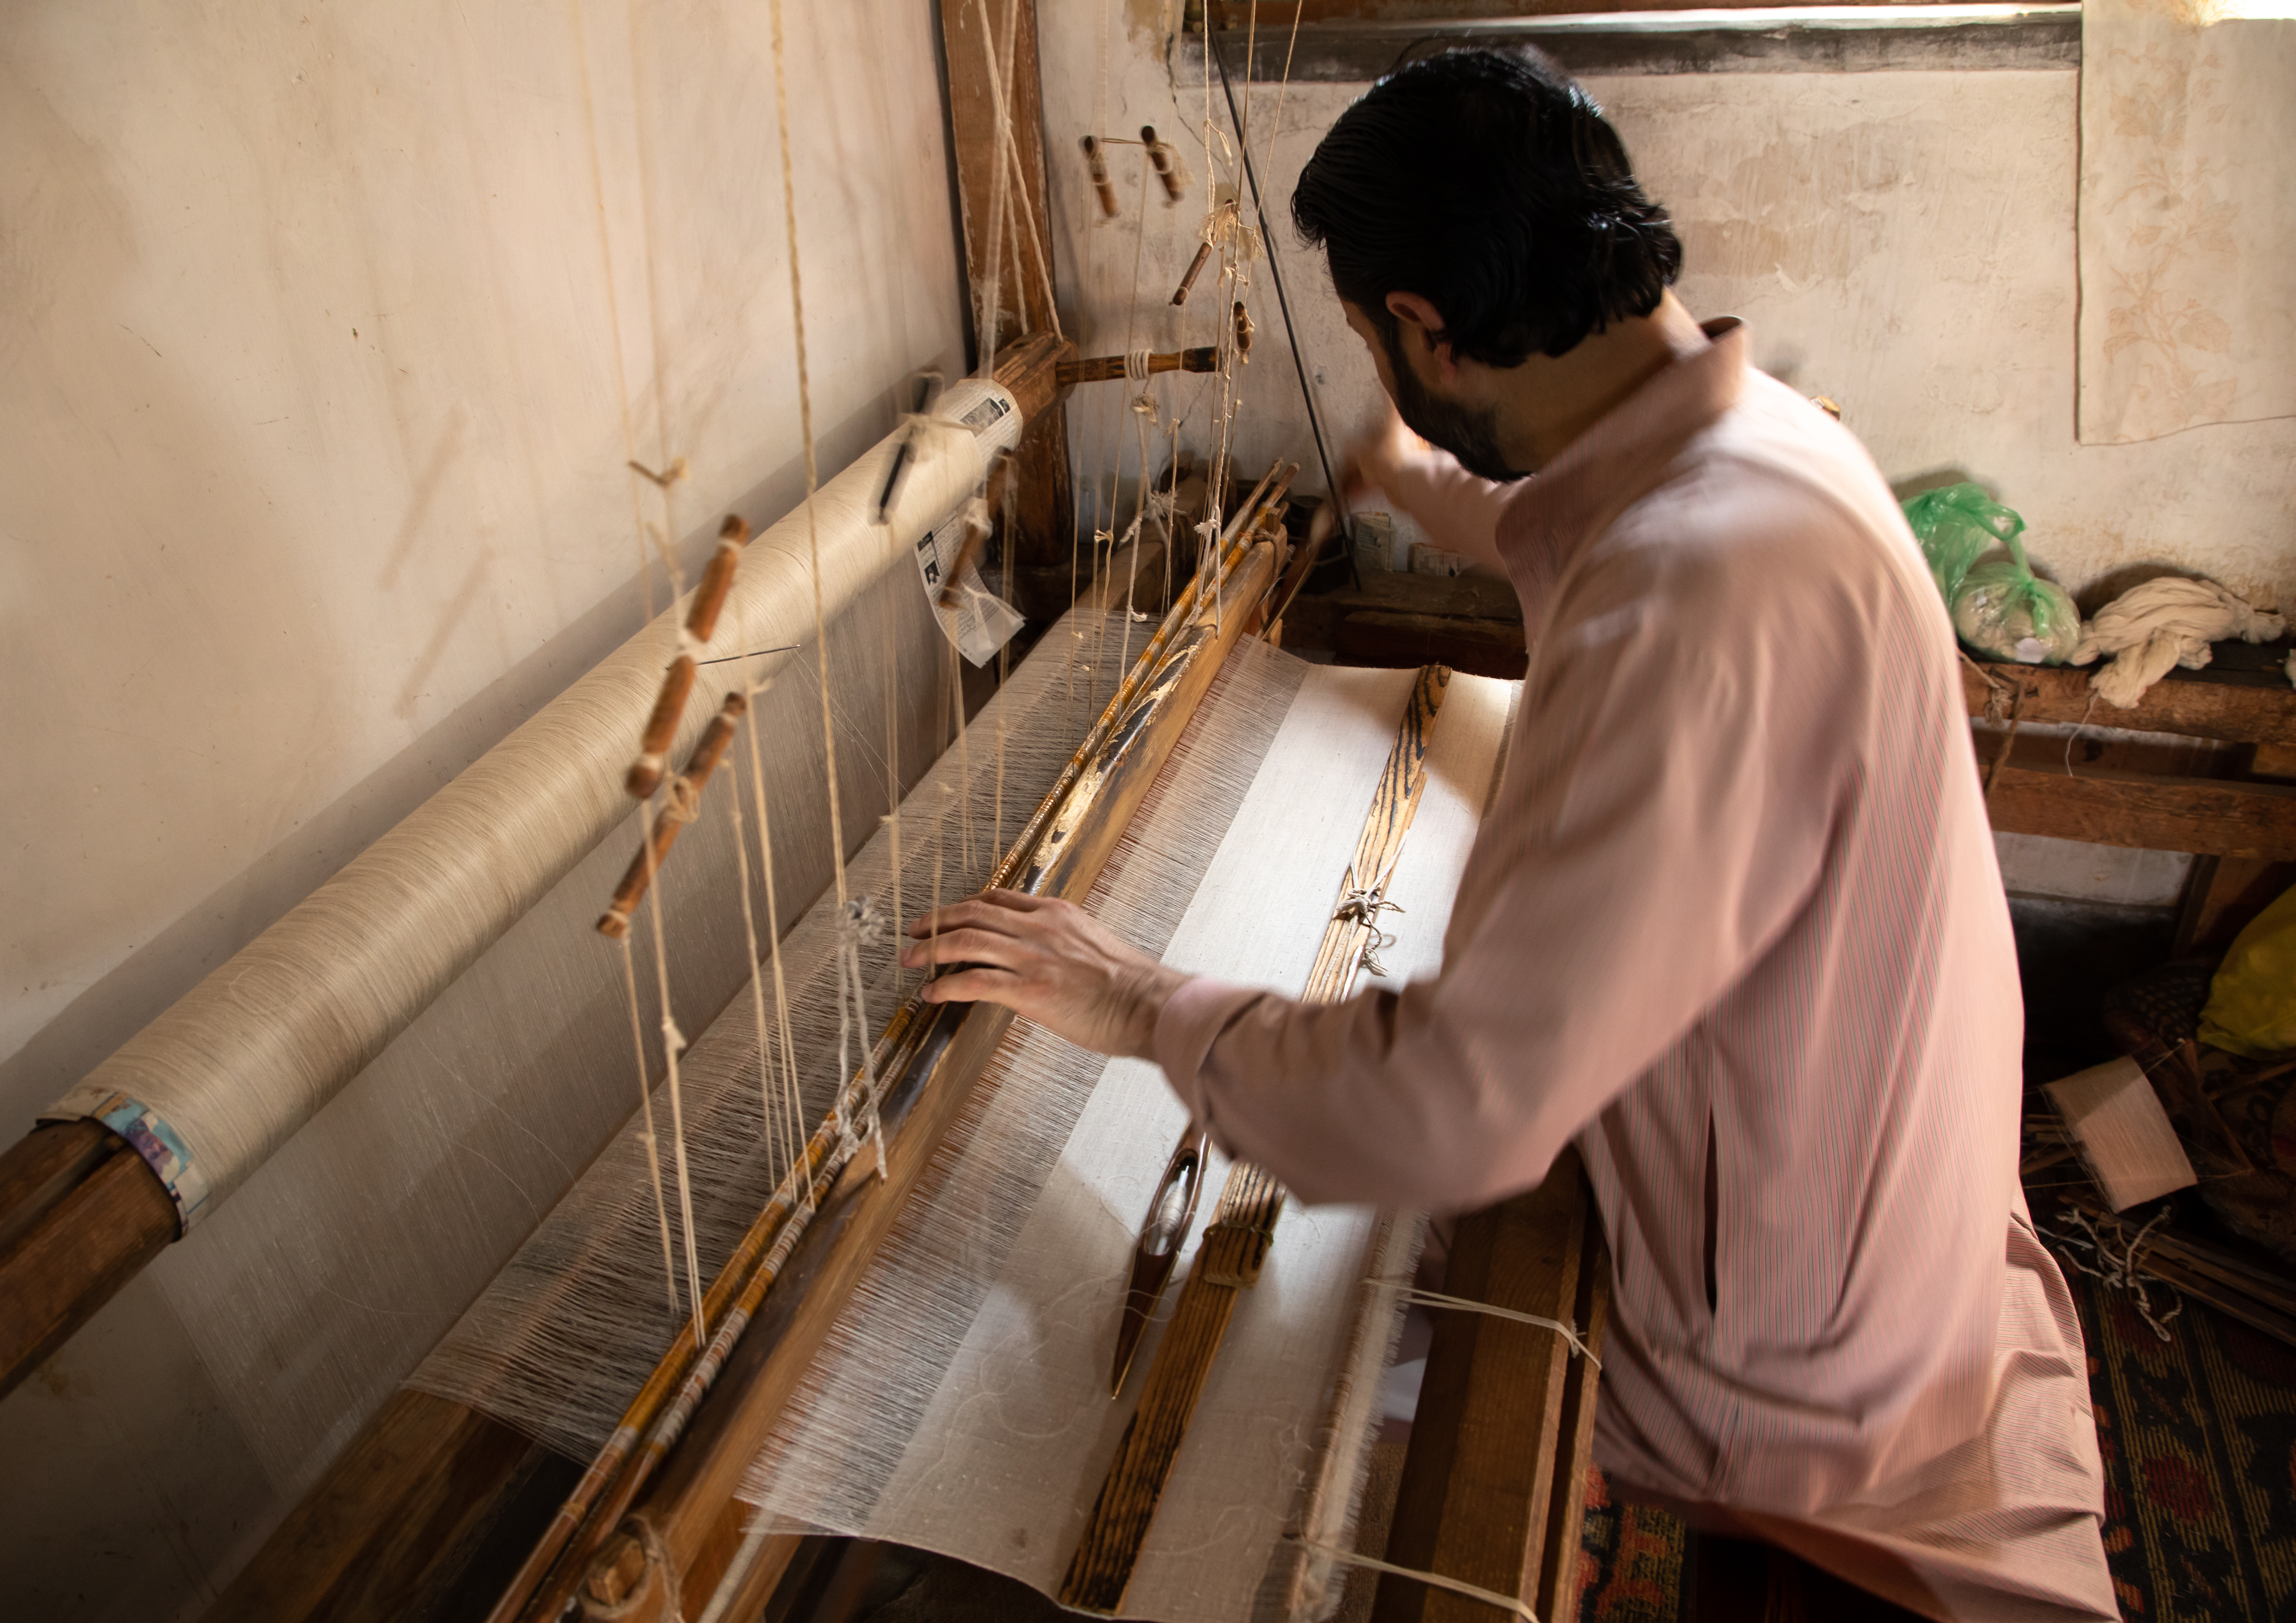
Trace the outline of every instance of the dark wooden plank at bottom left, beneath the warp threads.
<instances>
[{"instance_id":1,"label":"dark wooden plank at bottom left, beneath the warp threads","mask_svg":"<svg viewBox=\"0 0 2296 1623\"><path fill-rule=\"evenodd\" d=\"M207 1623L416 1616L546 1458L475 1410L400 1391L264 1540Z\"/></svg>"}]
</instances>

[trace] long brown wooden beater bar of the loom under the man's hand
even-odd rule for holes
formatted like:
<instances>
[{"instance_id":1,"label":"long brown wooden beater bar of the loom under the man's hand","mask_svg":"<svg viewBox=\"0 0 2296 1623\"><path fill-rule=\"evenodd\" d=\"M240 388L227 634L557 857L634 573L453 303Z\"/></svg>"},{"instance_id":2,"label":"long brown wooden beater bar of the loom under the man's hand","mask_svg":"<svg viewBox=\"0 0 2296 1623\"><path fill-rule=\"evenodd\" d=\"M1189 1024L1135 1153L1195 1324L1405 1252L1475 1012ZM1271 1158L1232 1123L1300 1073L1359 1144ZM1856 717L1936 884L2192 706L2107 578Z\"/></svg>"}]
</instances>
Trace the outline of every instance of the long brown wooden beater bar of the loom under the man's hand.
<instances>
[{"instance_id":1,"label":"long brown wooden beater bar of the loom under the man's hand","mask_svg":"<svg viewBox=\"0 0 2296 1623\"><path fill-rule=\"evenodd\" d=\"M1277 549L1254 535L1265 512L1281 503L1293 473L1272 471L1235 512L1217 569L1210 578L1199 576L1148 638L1086 741L1022 826L994 884L1063 898L1091 891L1219 661L1274 583ZM726 1554L712 1547L712 1533L723 1524L742 1474L1008 1024L1010 1012L996 1005L925 1005L916 999L889 1022L866 1072L879 1077L872 1111L884 1134L882 1159L863 1157L861 1166L836 1175L801 1235L790 1237L783 1228L774 1251L785 1251L785 1260L762 1283L760 1267L744 1292L758 1304L753 1315L744 1315L746 1334L726 1334L735 1320L730 1313L712 1343L714 1357L687 1377L680 1407L691 1419L673 1410L657 1419L657 1435L666 1437L659 1467L647 1467L652 1478L631 1490L629 1515L590 1556L579 1584L585 1612L659 1618L707 1605ZM698 1393L693 1377L712 1366L716 1380ZM664 1421L682 1421L682 1435L664 1432ZM590 1527L604 1522L602 1515L588 1520ZM581 1540L567 1540L560 1561L576 1563L579 1547ZM675 1595L668 1593L673 1584ZM551 1616L546 1600L549 1591L542 1591L542 1605L530 1605L523 1616Z\"/></svg>"}]
</instances>

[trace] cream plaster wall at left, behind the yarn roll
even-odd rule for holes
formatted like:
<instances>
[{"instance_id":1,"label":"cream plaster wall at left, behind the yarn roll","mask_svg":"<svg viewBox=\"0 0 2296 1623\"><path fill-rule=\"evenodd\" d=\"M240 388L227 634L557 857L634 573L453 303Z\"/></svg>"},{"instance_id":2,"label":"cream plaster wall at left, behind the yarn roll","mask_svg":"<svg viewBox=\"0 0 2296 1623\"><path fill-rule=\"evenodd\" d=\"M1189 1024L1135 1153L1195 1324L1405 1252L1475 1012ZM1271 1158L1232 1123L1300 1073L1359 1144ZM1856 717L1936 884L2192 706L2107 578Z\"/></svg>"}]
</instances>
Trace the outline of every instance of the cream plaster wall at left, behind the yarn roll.
<instances>
[{"instance_id":1,"label":"cream plaster wall at left, behind the yarn roll","mask_svg":"<svg viewBox=\"0 0 2296 1623\"><path fill-rule=\"evenodd\" d=\"M5 1141L638 629L641 521L691 565L728 507L797 503L767 25L0 14ZM937 18L788 28L831 473L964 360ZM629 457L691 477L664 503ZM317 1469L250 1442L262 1380L186 1336L184 1251L0 1405L0 1614L197 1616Z\"/></svg>"}]
</instances>

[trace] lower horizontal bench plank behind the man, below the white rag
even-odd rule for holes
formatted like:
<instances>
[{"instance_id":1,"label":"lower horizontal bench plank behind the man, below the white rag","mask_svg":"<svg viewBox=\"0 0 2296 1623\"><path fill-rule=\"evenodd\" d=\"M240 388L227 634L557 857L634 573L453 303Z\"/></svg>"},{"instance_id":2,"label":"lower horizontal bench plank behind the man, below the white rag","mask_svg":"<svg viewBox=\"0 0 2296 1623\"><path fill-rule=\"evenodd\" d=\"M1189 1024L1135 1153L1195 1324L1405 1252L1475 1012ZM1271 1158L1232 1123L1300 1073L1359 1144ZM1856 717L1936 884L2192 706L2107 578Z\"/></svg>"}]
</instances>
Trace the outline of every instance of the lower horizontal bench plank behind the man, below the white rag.
<instances>
[{"instance_id":1,"label":"lower horizontal bench plank behind the man, below the white rag","mask_svg":"<svg viewBox=\"0 0 2296 1623\"><path fill-rule=\"evenodd\" d=\"M2034 771L2004 764L1986 797L2002 833L2296 861L2296 790L2236 778Z\"/></svg>"}]
</instances>

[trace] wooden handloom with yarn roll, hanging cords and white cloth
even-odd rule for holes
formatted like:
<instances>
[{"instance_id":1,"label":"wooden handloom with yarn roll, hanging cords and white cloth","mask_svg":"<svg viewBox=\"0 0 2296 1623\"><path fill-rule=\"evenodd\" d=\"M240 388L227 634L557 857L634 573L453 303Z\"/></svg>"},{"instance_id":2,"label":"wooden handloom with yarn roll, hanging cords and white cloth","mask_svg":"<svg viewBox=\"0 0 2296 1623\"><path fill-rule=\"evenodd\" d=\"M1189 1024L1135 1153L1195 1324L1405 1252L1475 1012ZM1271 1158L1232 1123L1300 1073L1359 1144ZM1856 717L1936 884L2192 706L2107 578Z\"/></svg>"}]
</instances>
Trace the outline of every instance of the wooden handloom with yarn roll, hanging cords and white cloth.
<instances>
[{"instance_id":1,"label":"wooden handloom with yarn roll, hanging cords and white cloth","mask_svg":"<svg viewBox=\"0 0 2296 1623\"><path fill-rule=\"evenodd\" d=\"M907 1538L1049 1591L1081 1531L1091 1481L1125 1419L1097 1396L1116 1258L1157 1148L1180 1127L1176 1106L1150 1067L1102 1065L1035 1031L999 1040L1006 1019L994 1010L905 1005L914 978L893 964L893 934L907 914L992 875L1068 893L1104 868L1095 907L1143 948L1300 989L1306 962L1295 957L1313 953L1345 902L1332 872L1352 849L1410 673L1306 673L1254 640L1306 565L1295 558L1270 597L1283 549L1283 489L1270 480L1226 521L1212 498L1194 549L1201 585L1164 631L1150 638L1127 613L1130 581L1118 578L1093 599L1116 613L1061 620L1045 654L967 728L955 654L932 636L902 553L951 523L978 533L994 455L1026 422L1056 434L1061 386L1086 381L1061 376L1075 349L1049 310L1035 220L1022 230L1031 193L1010 101L1033 53L1017 48L1024 9L1001 9L999 28L985 2L944 7L953 57L957 18L978 14L992 44L985 287L976 271L990 317L983 376L755 542L728 530L693 608L661 615L354 861L90 1077L64 1102L87 1120L51 1129L46 1194L16 1207L39 1244L5 1260L11 1286L39 1286L7 1292L11 1380L197 1221L202 1244L170 1256L174 1292L200 1304L186 1322L230 1389L264 1393L246 1428L276 1481L308 1485L349 1444L214 1616L420 1612L530 1469L519 1437L604 1469L563 1517L558 1547L535 1547L533 1582L505 1595L505 1616L549 1614L563 1595L592 1616L735 1614L785 1561L788 1529ZM967 161L960 154L960 170ZM1166 161L1155 172L1178 195ZM788 197L788 174L783 184ZM969 232L971 204L967 181ZM1210 484L1224 491L1256 243L1233 200L1215 204L1212 220L1205 246L1219 248L1221 298ZM1015 275L1001 292L1008 234ZM1015 289L1022 310L1040 305L1040 321L1001 319ZM792 305L810 484L794 230ZM1159 370L1130 344L1120 360L1120 372L1097 372L1139 386ZM1109 572L1123 567L1123 542L1134 542L1137 565L1143 519L1155 517L1148 441L1162 425L1134 416L1141 500L1130 530L1111 517L1095 533L1095 562ZM1031 438L1042 450L1047 434ZM1022 477L1003 487L1008 519L1015 491L1022 503L1042 494L1029 464L1022 445ZM1224 661L1228 647L1240 652ZM1118 691L1127 670L1141 680ZM1189 707L1208 691L1192 725ZM1412 865L1394 875L1394 895L1414 909L1389 953L1398 976L1435 966L1504 712L1504 691L1490 689L1476 709L1483 725L1440 744L1458 741L1465 755L1449 778L1435 774L1449 787L1428 810L1440 799L1433 822L1449 824L1421 847L1426 877ZM1297 719L1313 723L1316 748L1283 744ZM1334 732L1352 739L1357 781L1329 769ZM900 762L934 751L905 797ZM1286 751L1295 776L1267 778ZM856 771L854 753L872 760ZM661 806L631 820L622 785L643 797L664 781ZM1091 792L1075 794L1079 785ZM859 852L840 831L840 790L843 829L884 813ZM1316 859L1309 824L1339 842L1341 863L1302 884L1281 865ZM792 829L797 847L827 847L827 872L790 854ZM625 886L608 923L627 927L627 948L602 948L590 923L615 872ZM794 898L827 888L788 934L776 875ZM1249 879L1267 886L1261 900L1240 888ZM1286 911L1300 907L1311 930ZM537 1028L503 1031L503 1008L537 985L551 987L533 1003ZM602 1024L622 1008L622 1031ZM675 1008L723 1015L689 1045ZM579 1012L546 1031L560 1010ZM634 1051L641 1090L629 1116ZM512 1072L526 1100L563 1120L519 1120L498 1102L512 1090L466 1081ZM971 1088L934 1086L960 1072ZM445 1116L436 1079L457 1084ZM411 1118L406 1100L432 1120ZM625 1116L537 1228L569 1155L588 1157ZM429 1201L439 1155L425 1134L501 1166L503 1210ZM122 1141L138 1155L119 1152ZM344 1221L349 1191L379 1194L383 1221ZM264 1221L241 1221L250 1210ZM310 1221L298 1228L301 1214ZM266 1235L305 1228L335 1251L317 1263L266 1251ZM464 1228L478 1244L457 1247ZM480 1260L489 1247L528 1228L512 1265L461 1311L491 1269ZM1199 1410L1201 1435L1231 1446L1176 1462L1127 1607L1311 1616L1336 1600L1329 1554L1348 1538L1398 1322L1384 1281L1410 1272L1417 1235L1410 1217L1313 1212L1286 1224ZM250 1315L273 1279L294 1286L292 1304ZM372 1290L420 1297L427 1311L377 1334L370 1315L315 1311L305 1279L354 1306ZM411 1279L427 1290L409 1292ZM744 1318L753 1331L730 1338ZM1035 1338L1015 1361L1024 1320ZM1045 1334L1054 1325L1061 1336ZM432 1341L432 1357L383 1400ZM1058 1407L1068 1352L1097 1366L1077 1389L1095 1396L1081 1423L1072 1403ZM723 1370L707 1393L693 1380L703 1366ZM1042 1380L1035 1410L1013 1407L1017 1370ZM650 1396L634 1405L638 1391ZM983 1426L1022 1410L1033 1419ZM1052 1449L1038 1426L1047 1414L1065 1414ZM622 1416L643 1421L615 1453ZM1003 1460L1006 1483L1038 1499L1015 1492L985 1515L980 1476L964 1465L978 1458ZM1047 1476L1047 1460L1065 1467ZM1215 1545L1221 1559L1208 1561Z\"/></svg>"}]
</instances>

